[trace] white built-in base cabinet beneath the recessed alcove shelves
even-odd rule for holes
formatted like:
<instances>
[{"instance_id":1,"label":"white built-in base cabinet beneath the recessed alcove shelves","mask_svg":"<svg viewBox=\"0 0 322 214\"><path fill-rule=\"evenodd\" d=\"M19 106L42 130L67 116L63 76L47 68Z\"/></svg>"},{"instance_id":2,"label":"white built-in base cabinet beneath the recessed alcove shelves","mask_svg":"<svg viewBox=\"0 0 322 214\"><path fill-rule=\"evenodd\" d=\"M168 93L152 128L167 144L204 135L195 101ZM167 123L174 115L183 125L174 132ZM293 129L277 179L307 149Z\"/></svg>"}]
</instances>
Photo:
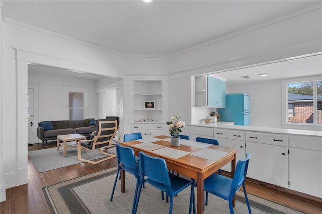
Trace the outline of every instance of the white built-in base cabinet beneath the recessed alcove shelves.
<instances>
[{"instance_id":1,"label":"white built-in base cabinet beneath the recessed alcove shelves","mask_svg":"<svg viewBox=\"0 0 322 214\"><path fill-rule=\"evenodd\" d=\"M131 124L131 133L140 132L142 138L151 138L159 135L165 134L166 124L164 123L132 123Z\"/></svg>"}]
</instances>

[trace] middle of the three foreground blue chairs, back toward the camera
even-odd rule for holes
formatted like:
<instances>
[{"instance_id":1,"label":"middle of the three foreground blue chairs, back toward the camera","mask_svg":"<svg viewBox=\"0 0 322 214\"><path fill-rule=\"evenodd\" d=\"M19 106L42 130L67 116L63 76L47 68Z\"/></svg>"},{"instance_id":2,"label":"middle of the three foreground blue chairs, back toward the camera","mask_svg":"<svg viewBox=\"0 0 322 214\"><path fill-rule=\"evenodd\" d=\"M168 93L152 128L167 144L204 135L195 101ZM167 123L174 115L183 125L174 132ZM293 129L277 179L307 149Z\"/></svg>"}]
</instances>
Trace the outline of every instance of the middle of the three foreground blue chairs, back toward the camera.
<instances>
[{"instance_id":1,"label":"middle of the three foreground blue chairs, back toward the camera","mask_svg":"<svg viewBox=\"0 0 322 214\"><path fill-rule=\"evenodd\" d=\"M144 181L167 193L167 199L170 197L169 214L172 213L173 197L188 186L191 186L190 200L194 200L194 182L169 173L166 161L163 158L152 157L146 155L144 152L139 152L139 165L141 180L135 205L135 212L138 207L142 184Z\"/></svg>"}]
</instances>

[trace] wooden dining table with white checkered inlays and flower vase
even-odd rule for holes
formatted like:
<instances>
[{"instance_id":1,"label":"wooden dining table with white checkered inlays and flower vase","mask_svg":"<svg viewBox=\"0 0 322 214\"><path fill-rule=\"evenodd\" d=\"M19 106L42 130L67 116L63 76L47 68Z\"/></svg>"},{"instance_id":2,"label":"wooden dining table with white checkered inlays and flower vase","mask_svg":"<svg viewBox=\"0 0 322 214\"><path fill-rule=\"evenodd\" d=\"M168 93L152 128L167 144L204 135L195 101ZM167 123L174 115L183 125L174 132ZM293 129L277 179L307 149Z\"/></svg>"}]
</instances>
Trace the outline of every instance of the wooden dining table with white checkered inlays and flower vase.
<instances>
[{"instance_id":1,"label":"wooden dining table with white checkered inlays and flower vase","mask_svg":"<svg viewBox=\"0 0 322 214\"><path fill-rule=\"evenodd\" d=\"M197 213L203 213L204 179L231 162L231 177L236 165L237 149L180 139L179 147L172 147L170 136L155 136L148 139L121 142L131 147L138 156L140 151L165 159L167 167L197 182ZM121 192L125 192L125 171L121 175ZM235 199L233 200L235 206Z\"/></svg>"}]
</instances>

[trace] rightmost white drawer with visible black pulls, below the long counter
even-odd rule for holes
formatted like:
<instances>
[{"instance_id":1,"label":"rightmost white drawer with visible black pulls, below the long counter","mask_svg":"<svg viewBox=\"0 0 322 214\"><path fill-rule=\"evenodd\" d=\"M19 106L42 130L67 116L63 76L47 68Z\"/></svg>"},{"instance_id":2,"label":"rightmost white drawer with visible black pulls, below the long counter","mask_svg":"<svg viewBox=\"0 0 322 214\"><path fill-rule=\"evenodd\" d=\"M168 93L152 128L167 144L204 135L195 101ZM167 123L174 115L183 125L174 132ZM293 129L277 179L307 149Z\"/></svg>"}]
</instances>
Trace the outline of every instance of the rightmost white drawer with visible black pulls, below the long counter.
<instances>
[{"instance_id":1,"label":"rightmost white drawer with visible black pulls, below the long counter","mask_svg":"<svg viewBox=\"0 0 322 214\"><path fill-rule=\"evenodd\" d=\"M269 134L269 133L257 133L257 132L247 132L246 141L265 143L279 146L288 146L288 137L279 134Z\"/></svg>"}]
</instances>

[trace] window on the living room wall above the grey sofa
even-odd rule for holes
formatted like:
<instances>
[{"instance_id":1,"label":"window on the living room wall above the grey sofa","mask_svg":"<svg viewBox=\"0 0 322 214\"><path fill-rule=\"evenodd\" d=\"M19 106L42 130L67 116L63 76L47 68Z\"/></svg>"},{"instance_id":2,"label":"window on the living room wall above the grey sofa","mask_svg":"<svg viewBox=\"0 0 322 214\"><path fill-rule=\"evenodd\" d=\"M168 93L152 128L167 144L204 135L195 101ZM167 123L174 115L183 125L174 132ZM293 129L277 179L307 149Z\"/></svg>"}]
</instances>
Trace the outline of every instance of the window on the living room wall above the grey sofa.
<instances>
[{"instance_id":1,"label":"window on the living room wall above the grey sofa","mask_svg":"<svg viewBox=\"0 0 322 214\"><path fill-rule=\"evenodd\" d=\"M68 92L68 116L69 120L84 119L84 92Z\"/></svg>"}]
</instances>

